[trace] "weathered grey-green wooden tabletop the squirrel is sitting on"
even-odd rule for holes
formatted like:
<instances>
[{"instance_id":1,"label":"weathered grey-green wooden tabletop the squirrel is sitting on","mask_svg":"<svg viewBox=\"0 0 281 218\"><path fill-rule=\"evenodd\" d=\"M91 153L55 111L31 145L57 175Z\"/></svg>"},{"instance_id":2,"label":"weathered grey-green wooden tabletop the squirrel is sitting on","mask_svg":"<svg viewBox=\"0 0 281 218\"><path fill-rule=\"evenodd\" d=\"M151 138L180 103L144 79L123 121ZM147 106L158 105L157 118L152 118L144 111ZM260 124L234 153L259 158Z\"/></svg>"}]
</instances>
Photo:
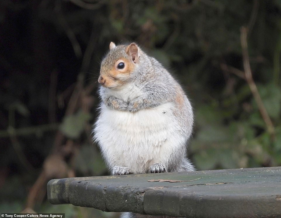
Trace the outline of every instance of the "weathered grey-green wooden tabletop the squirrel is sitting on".
<instances>
[{"instance_id":1,"label":"weathered grey-green wooden tabletop the squirrel is sitting on","mask_svg":"<svg viewBox=\"0 0 281 218\"><path fill-rule=\"evenodd\" d=\"M149 182L154 179L186 182ZM281 217L281 167L52 179L47 189L53 204L103 211Z\"/></svg>"}]
</instances>

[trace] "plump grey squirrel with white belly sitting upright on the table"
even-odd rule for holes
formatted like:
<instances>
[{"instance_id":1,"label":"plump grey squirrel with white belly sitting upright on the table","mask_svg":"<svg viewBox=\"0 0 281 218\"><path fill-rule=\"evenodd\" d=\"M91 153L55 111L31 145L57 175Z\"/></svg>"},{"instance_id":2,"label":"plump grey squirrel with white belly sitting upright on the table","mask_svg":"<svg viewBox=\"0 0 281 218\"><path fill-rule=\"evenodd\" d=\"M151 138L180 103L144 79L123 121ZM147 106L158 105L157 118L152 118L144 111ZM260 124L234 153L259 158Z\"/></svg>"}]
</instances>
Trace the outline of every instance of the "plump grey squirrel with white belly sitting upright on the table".
<instances>
[{"instance_id":1,"label":"plump grey squirrel with white belly sitting upright on the table","mask_svg":"<svg viewBox=\"0 0 281 218\"><path fill-rule=\"evenodd\" d=\"M109 48L93 133L112 175L195 170L186 158L193 112L181 86L136 43Z\"/></svg>"}]
</instances>

